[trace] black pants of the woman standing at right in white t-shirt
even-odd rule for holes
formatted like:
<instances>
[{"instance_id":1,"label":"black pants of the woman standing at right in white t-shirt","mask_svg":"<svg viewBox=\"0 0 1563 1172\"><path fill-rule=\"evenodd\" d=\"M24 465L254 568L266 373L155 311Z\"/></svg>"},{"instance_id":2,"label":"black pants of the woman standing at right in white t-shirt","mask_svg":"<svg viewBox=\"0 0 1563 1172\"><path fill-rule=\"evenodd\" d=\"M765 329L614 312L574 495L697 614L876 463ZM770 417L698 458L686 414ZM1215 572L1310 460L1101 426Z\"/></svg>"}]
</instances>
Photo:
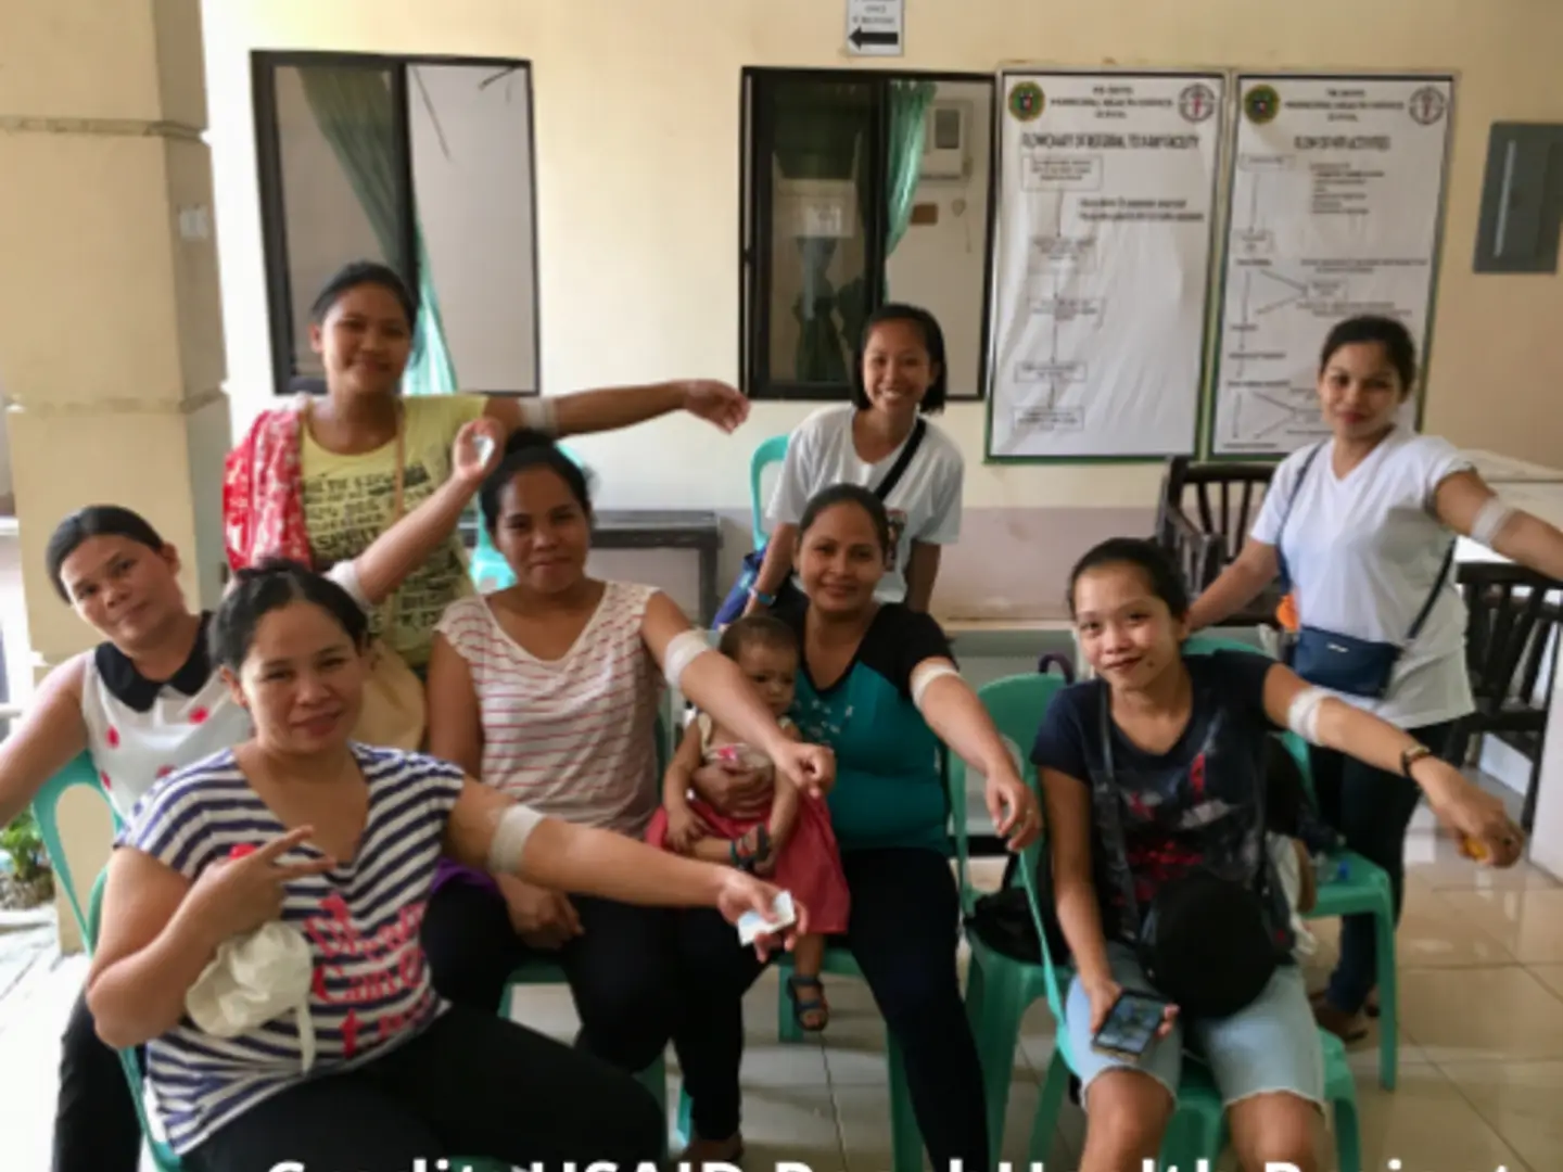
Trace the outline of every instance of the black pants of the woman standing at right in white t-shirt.
<instances>
[{"instance_id":1,"label":"black pants of the woman standing at right in white t-shirt","mask_svg":"<svg viewBox=\"0 0 1563 1172\"><path fill-rule=\"evenodd\" d=\"M1438 756L1447 756L1454 722L1407 731ZM1314 747L1308 756L1319 813L1341 833L1347 847L1390 872L1394 920L1399 924L1405 902L1405 831L1422 791L1410 778L1374 769L1332 749ZM1374 917L1368 913L1346 916L1341 920L1341 959L1330 974L1330 1005L1343 1013L1357 1013L1377 980Z\"/></svg>"}]
</instances>

